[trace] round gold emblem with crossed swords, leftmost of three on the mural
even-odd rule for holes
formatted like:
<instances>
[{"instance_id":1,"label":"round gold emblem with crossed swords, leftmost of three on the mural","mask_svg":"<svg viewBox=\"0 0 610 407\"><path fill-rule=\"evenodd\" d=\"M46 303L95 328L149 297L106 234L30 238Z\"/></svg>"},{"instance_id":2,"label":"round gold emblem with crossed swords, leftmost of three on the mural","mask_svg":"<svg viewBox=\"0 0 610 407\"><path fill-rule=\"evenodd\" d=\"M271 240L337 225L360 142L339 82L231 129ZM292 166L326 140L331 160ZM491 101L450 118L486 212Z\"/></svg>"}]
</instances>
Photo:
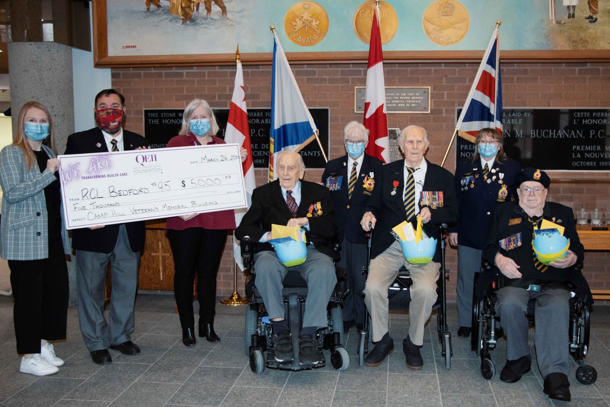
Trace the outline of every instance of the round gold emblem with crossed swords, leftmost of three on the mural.
<instances>
[{"instance_id":1,"label":"round gold emblem with crossed swords, leftmost of three on the mural","mask_svg":"<svg viewBox=\"0 0 610 407\"><path fill-rule=\"evenodd\" d=\"M328 15L320 4L300 1L290 7L286 13L284 29L290 41L303 47L310 47L326 37Z\"/></svg>"}]
</instances>

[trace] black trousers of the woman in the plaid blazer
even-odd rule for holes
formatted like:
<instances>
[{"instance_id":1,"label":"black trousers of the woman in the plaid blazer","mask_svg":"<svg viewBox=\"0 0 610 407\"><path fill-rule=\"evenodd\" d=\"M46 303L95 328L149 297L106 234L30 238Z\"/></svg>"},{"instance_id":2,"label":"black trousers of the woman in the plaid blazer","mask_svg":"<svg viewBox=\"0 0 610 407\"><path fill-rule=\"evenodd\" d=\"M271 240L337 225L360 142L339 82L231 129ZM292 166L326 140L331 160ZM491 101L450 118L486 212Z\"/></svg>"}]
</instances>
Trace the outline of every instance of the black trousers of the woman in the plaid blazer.
<instances>
[{"instance_id":1,"label":"black trousers of the woman in the plaid blazer","mask_svg":"<svg viewBox=\"0 0 610 407\"><path fill-rule=\"evenodd\" d=\"M40 353L40 339L66 339L68 267L61 239L49 258L9 260L17 353Z\"/></svg>"}]
</instances>

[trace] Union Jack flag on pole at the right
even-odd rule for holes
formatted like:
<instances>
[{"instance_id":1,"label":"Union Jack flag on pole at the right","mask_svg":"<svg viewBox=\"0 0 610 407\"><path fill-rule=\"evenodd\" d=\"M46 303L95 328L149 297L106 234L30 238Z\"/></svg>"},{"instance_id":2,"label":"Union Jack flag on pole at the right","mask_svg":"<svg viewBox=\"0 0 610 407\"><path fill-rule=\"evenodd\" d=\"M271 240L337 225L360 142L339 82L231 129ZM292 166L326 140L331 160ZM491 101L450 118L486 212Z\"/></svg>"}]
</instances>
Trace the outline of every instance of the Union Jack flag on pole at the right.
<instances>
[{"instance_id":1,"label":"Union Jack flag on pole at the right","mask_svg":"<svg viewBox=\"0 0 610 407\"><path fill-rule=\"evenodd\" d=\"M456 130L458 135L472 143L476 133L490 127L502 134L502 82L500 79L500 44L498 27L479 65L464 108L459 116Z\"/></svg>"}]
</instances>

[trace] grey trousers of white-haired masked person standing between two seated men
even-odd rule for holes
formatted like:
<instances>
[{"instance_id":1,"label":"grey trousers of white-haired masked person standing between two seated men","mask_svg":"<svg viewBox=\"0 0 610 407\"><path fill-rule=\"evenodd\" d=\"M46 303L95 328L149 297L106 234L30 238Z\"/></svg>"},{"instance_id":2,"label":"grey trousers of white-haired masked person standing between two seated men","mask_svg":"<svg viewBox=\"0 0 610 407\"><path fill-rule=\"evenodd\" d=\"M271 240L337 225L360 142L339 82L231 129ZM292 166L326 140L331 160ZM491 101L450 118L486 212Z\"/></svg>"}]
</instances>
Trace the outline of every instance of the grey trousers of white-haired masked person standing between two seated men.
<instances>
[{"instance_id":1,"label":"grey trousers of white-haired masked person standing between two seated men","mask_svg":"<svg viewBox=\"0 0 610 407\"><path fill-rule=\"evenodd\" d=\"M346 296L343 299L343 320L355 320L357 324L364 323L367 310L364 306L364 284L367 276L362 273L362 267L367 265L367 245L353 243L343 239L341 243L341 260L337 266L345 269Z\"/></svg>"}]
</instances>

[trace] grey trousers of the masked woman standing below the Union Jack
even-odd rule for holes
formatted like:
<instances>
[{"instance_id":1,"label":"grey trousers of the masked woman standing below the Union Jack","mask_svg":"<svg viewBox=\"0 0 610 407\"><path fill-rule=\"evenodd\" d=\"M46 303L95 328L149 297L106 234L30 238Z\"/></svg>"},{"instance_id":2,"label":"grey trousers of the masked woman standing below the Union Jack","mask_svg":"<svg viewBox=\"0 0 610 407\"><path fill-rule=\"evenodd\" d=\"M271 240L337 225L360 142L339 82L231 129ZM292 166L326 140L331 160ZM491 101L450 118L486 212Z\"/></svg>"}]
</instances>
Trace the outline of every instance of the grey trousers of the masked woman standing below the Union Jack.
<instances>
[{"instance_id":1,"label":"grey trousers of the masked woman standing below the Union Jack","mask_svg":"<svg viewBox=\"0 0 610 407\"><path fill-rule=\"evenodd\" d=\"M460 327L472 325L472 291L475 273L481 271L483 250L458 246L458 320Z\"/></svg>"}]
</instances>

